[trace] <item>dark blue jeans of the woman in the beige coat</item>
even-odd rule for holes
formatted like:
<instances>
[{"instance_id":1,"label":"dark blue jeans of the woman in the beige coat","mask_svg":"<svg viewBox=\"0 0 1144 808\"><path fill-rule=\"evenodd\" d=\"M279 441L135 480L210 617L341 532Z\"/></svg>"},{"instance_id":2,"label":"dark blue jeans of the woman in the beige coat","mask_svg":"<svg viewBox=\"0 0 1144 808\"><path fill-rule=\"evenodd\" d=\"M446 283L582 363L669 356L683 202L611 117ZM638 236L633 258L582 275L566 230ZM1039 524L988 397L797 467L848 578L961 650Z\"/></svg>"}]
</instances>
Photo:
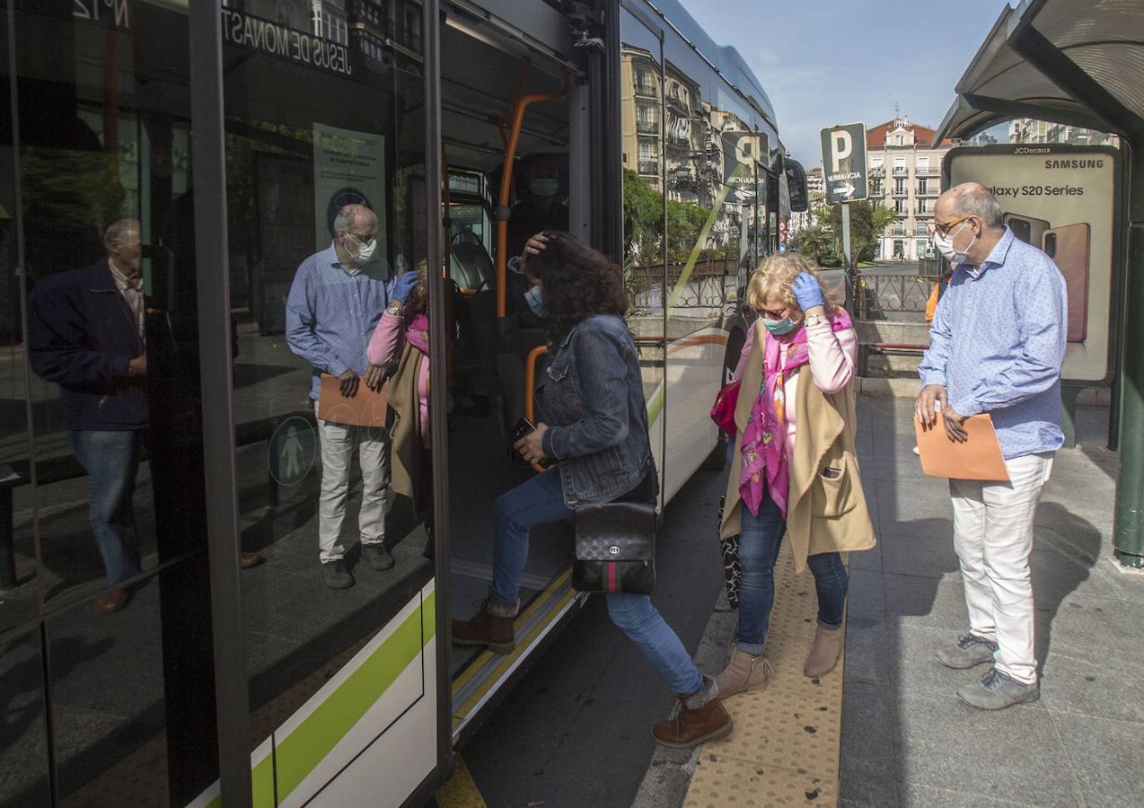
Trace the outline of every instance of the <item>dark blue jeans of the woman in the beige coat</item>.
<instances>
[{"instance_id":1,"label":"dark blue jeans of the woman in the beige coat","mask_svg":"<svg viewBox=\"0 0 1144 808\"><path fill-rule=\"evenodd\" d=\"M774 604L774 562L786 532L786 521L770 494L763 496L758 515L742 506L739 533L739 629L736 644L752 656L763 652L766 628ZM807 559L818 592L818 625L839 628L847 602L847 568L837 553L820 553Z\"/></svg>"}]
</instances>

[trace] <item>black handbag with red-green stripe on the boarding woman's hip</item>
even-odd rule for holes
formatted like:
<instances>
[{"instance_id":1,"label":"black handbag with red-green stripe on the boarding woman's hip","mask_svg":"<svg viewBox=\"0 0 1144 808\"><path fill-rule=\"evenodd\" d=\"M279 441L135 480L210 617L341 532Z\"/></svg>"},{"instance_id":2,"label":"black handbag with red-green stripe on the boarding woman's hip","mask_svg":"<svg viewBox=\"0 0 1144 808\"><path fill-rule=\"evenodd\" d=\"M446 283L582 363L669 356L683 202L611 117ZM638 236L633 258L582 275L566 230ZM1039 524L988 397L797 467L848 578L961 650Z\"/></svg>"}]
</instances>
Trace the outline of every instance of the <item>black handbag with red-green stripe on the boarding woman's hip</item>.
<instances>
[{"instance_id":1,"label":"black handbag with red-green stripe on the boarding woman's hip","mask_svg":"<svg viewBox=\"0 0 1144 808\"><path fill-rule=\"evenodd\" d=\"M577 508L572 587L578 592L652 594L657 526L652 502Z\"/></svg>"}]
</instances>

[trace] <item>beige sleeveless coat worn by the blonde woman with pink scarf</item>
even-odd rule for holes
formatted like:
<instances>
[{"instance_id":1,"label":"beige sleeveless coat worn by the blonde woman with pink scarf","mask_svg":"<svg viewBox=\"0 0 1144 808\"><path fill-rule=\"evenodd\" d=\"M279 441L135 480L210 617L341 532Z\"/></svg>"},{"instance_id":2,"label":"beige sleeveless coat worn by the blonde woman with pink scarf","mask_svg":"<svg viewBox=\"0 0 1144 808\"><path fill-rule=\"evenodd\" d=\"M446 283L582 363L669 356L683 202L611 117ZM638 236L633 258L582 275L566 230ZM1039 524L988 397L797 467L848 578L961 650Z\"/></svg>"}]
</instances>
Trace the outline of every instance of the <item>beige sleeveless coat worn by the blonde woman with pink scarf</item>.
<instances>
[{"instance_id":1,"label":"beige sleeveless coat worn by the blonde woman with pink scarf","mask_svg":"<svg viewBox=\"0 0 1144 808\"><path fill-rule=\"evenodd\" d=\"M760 335L747 355L742 390L758 390L762 386L763 344ZM740 395L734 409L738 431L720 530L724 538L738 534L742 523L739 458L742 433L754 405L755 396ZM799 433L788 458L787 538L794 550L795 572L802 572L808 555L869 549L875 538L855 450L858 419L853 385L847 385L840 393L825 394L815 383L810 366L803 365L795 390L795 417Z\"/></svg>"}]
</instances>

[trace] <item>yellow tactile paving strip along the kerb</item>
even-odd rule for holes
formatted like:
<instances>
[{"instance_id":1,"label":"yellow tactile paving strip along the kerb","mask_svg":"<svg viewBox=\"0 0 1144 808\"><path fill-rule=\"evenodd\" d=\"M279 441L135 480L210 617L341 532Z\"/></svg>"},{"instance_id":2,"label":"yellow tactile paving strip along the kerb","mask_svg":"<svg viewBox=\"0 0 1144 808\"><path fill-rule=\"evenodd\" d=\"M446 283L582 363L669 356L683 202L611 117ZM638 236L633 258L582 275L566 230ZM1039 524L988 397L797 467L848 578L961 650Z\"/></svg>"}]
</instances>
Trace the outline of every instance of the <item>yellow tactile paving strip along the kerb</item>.
<instances>
[{"instance_id":1,"label":"yellow tactile paving strip along the kerb","mask_svg":"<svg viewBox=\"0 0 1144 808\"><path fill-rule=\"evenodd\" d=\"M688 808L837 805L842 667L820 679L802 673L818 601L810 572L794 575L786 545L774 570L766 690L724 702L734 731L699 752Z\"/></svg>"}]
</instances>

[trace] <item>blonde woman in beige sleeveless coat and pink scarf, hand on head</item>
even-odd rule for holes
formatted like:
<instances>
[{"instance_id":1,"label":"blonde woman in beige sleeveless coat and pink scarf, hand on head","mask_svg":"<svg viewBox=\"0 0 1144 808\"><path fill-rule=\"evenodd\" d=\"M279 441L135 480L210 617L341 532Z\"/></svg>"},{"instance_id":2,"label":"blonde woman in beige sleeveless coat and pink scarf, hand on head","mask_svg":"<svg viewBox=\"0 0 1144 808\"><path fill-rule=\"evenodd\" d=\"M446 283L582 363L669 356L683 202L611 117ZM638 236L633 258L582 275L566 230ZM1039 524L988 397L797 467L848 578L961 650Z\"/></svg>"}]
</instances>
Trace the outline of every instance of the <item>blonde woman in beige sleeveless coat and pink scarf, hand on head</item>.
<instances>
[{"instance_id":1,"label":"blonde woman in beige sleeveless coat and pink scarf, hand on head","mask_svg":"<svg viewBox=\"0 0 1144 808\"><path fill-rule=\"evenodd\" d=\"M804 673L832 671L842 648L848 576L840 552L874 546L855 453L857 339L844 309L795 255L768 259L747 286L760 317L736 371L737 437L721 533L739 536L739 627L721 697L766 687L763 644L774 562L791 539L795 571L810 567L818 629Z\"/></svg>"}]
</instances>

